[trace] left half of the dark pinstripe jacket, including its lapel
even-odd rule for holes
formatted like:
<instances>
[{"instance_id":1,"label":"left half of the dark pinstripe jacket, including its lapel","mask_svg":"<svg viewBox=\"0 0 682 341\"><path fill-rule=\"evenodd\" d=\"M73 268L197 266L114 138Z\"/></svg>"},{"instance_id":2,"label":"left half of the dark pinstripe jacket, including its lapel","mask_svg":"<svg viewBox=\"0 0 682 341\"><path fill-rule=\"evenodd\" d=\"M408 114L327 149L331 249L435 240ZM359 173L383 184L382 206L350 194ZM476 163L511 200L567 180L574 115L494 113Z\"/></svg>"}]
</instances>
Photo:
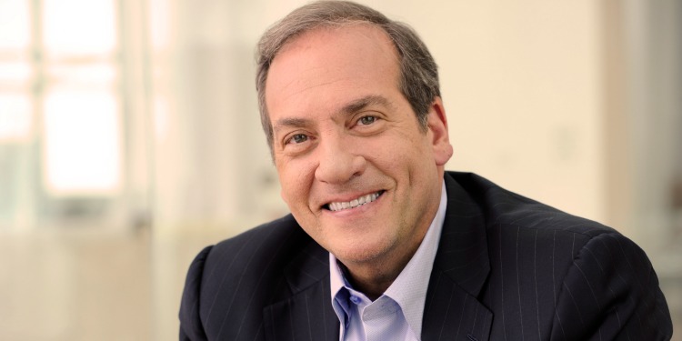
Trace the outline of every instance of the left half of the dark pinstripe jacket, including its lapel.
<instances>
[{"instance_id":1,"label":"left half of the dark pinstripe jacket, including its lapel","mask_svg":"<svg viewBox=\"0 0 682 341\"><path fill-rule=\"evenodd\" d=\"M327 255L291 216L206 248L187 274L180 339L338 336Z\"/></svg>"}]
</instances>

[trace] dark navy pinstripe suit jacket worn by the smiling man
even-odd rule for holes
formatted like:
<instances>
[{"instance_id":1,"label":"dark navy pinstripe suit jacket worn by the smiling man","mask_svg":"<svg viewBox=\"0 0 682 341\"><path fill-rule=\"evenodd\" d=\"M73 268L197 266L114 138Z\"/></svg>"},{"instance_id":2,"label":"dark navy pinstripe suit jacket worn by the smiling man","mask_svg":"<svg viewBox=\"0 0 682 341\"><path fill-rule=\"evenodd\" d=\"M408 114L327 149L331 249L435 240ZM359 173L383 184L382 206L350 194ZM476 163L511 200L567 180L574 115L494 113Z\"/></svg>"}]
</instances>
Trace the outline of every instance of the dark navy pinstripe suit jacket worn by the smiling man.
<instances>
[{"instance_id":1,"label":"dark navy pinstripe suit jacket worn by the smiling man","mask_svg":"<svg viewBox=\"0 0 682 341\"><path fill-rule=\"evenodd\" d=\"M645 253L615 230L446 173L422 340L668 340ZM328 254L285 216L206 247L189 268L183 340L338 340Z\"/></svg>"}]
</instances>

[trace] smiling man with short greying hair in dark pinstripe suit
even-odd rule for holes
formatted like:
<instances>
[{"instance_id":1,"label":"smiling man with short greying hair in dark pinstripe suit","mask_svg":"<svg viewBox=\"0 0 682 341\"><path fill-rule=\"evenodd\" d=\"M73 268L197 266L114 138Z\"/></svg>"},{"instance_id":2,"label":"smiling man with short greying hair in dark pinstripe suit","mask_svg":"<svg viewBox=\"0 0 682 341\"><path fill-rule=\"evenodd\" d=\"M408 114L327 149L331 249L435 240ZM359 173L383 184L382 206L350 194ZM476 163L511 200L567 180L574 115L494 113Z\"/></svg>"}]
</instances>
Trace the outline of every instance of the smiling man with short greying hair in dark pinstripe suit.
<instances>
[{"instance_id":1,"label":"smiling man with short greying hair in dark pinstripe suit","mask_svg":"<svg viewBox=\"0 0 682 341\"><path fill-rule=\"evenodd\" d=\"M613 229L445 172L436 64L406 25L301 7L258 48L292 214L190 266L190 340L665 340L644 252Z\"/></svg>"}]
</instances>

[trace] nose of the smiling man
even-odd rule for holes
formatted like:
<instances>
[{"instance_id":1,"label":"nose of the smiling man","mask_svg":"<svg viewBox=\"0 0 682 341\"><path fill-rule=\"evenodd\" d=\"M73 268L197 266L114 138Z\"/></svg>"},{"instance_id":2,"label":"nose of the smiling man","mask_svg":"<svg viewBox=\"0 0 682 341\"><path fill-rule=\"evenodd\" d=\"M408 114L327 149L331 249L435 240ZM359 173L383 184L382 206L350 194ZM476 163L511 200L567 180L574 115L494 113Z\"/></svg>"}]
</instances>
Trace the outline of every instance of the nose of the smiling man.
<instances>
[{"instance_id":1,"label":"nose of the smiling man","mask_svg":"<svg viewBox=\"0 0 682 341\"><path fill-rule=\"evenodd\" d=\"M344 184L365 171L366 159L357 153L352 137L326 136L317 145L318 164L315 176L328 184Z\"/></svg>"}]
</instances>

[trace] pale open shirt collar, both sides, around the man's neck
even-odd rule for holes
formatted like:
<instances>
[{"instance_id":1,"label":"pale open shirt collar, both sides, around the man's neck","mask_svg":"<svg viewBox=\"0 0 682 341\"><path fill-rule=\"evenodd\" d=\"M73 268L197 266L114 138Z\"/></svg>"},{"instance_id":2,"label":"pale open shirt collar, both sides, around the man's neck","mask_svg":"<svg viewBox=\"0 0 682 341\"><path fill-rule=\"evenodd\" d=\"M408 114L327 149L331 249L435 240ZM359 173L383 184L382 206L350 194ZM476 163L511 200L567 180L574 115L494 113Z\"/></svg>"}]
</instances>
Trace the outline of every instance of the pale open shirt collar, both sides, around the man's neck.
<instances>
[{"instance_id":1,"label":"pale open shirt collar, both sides, around the man's neck","mask_svg":"<svg viewBox=\"0 0 682 341\"><path fill-rule=\"evenodd\" d=\"M393 284L384 293L384 296L390 297L400 305L407 324L417 336L421 334L422 330L422 316L424 316L428 280L434 266L434 259L436 259L438 242L440 241L440 234L446 216L447 195L445 181L440 193L438 211L431 221L431 225L428 226L424 240L422 240L421 245L417 248L415 256L412 256L412 259L410 259L403 271L400 272L400 275L397 276ZM336 316L338 316L339 321L343 325L346 322L349 308L346 306L347 298L343 299L341 297L348 294L346 290L342 289L344 287L351 288L351 286L336 263L336 256L331 253L329 254L329 275L332 306L334 306ZM341 299L335 300L337 296Z\"/></svg>"}]
</instances>

